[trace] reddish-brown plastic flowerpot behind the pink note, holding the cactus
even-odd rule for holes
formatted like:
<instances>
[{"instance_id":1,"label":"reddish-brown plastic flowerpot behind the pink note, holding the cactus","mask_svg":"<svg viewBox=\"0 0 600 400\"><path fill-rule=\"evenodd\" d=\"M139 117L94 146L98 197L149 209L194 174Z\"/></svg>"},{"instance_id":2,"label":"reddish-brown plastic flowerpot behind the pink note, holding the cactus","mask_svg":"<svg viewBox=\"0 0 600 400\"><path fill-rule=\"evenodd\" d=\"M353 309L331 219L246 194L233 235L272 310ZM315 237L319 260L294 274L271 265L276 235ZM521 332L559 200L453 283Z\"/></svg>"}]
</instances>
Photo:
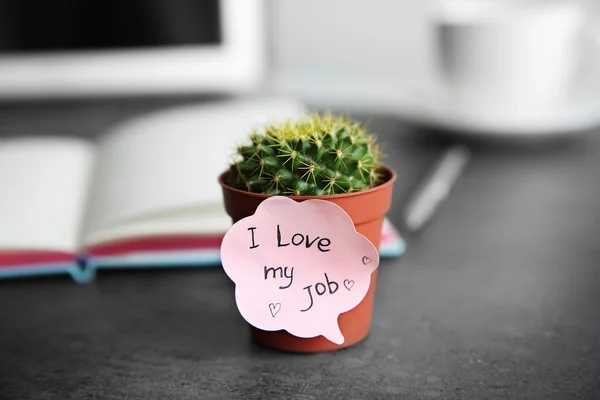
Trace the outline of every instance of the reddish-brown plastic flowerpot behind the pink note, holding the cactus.
<instances>
[{"instance_id":1,"label":"reddish-brown plastic flowerpot behind the pink note, holding the cactus","mask_svg":"<svg viewBox=\"0 0 600 400\"><path fill-rule=\"evenodd\" d=\"M379 248L383 220L390 209L392 188L396 181L396 174L389 167L383 166L381 173L382 183L362 192L331 196L289 196L289 198L296 201L323 199L337 204L348 213L356 230ZM227 183L228 175L228 171L221 174L219 183L223 189L225 209L233 223L236 223L254 214L258 205L271 196L234 189ZM293 352L325 352L354 345L369 333L376 283L377 270L371 275L371 286L362 302L352 310L340 314L338 322L345 338L342 345L330 342L323 336L306 339L293 336L285 330L269 332L250 326L252 337L266 347Z\"/></svg>"}]
</instances>

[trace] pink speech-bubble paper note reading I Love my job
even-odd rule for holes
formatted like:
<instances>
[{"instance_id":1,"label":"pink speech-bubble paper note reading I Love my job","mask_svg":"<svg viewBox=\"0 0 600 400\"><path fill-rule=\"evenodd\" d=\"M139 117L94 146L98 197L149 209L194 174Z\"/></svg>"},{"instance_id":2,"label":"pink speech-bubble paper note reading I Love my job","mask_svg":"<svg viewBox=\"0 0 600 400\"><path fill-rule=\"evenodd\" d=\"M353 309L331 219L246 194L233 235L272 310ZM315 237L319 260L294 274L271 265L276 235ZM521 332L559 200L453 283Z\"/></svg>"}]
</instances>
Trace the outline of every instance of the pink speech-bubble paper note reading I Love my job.
<instances>
[{"instance_id":1,"label":"pink speech-bubble paper note reading I Love my job","mask_svg":"<svg viewBox=\"0 0 600 400\"><path fill-rule=\"evenodd\" d=\"M379 253L338 205L274 196L229 229L221 261L248 323L341 345L338 316L367 294Z\"/></svg>"}]
</instances>

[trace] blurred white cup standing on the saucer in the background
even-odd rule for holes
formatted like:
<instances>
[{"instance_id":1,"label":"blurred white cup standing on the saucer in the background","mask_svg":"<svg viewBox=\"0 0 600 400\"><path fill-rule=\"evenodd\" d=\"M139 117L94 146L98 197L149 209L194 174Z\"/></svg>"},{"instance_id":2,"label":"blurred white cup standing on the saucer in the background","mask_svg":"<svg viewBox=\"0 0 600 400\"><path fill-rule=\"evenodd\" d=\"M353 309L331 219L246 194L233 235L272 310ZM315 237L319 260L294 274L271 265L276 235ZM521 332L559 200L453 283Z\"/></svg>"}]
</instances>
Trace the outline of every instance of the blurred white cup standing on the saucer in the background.
<instances>
[{"instance_id":1,"label":"blurred white cup standing on the saucer in the background","mask_svg":"<svg viewBox=\"0 0 600 400\"><path fill-rule=\"evenodd\" d=\"M439 3L435 59L449 104L481 118L556 107L577 75L584 17L572 1Z\"/></svg>"}]
</instances>

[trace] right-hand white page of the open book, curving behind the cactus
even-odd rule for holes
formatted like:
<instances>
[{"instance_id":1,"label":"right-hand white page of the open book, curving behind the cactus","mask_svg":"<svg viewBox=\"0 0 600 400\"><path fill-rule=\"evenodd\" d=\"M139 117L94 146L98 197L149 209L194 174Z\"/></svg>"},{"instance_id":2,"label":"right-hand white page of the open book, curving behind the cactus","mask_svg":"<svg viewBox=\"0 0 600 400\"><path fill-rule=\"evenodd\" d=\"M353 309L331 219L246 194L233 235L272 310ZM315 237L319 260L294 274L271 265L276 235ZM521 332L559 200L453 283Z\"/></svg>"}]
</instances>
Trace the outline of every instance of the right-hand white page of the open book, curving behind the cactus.
<instances>
[{"instance_id":1,"label":"right-hand white page of the open book, curving behind the cactus","mask_svg":"<svg viewBox=\"0 0 600 400\"><path fill-rule=\"evenodd\" d=\"M199 233L229 224L217 179L237 145L266 122L304 112L290 100L231 100L182 106L115 127L98 146L83 245L108 240L110 232L117 239L124 232L189 231L180 218L165 216L178 210L195 210ZM198 217L202 209L213 211ZM150 223L153 218L160 223Z\"/></svg>"}]
</instances>

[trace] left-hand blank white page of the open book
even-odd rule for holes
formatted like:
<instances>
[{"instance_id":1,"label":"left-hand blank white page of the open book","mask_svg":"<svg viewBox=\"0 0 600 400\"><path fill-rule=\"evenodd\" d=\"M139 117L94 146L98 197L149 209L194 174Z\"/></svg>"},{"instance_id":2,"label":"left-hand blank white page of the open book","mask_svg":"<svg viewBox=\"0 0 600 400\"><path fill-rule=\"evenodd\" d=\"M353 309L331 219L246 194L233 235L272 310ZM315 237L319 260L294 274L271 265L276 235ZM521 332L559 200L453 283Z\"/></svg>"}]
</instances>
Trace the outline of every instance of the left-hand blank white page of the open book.
<instances>
[{"instance_id":1,"label":"left-hand blank white page of the open book","mask_svg":"<svg viewBox=\"0 0 600 400\"><path fill-rule=\"evenodd\" d=\"M0 251L75 251L93 160L79 139L0 140Z\"/></svg>"}]
</instances>

